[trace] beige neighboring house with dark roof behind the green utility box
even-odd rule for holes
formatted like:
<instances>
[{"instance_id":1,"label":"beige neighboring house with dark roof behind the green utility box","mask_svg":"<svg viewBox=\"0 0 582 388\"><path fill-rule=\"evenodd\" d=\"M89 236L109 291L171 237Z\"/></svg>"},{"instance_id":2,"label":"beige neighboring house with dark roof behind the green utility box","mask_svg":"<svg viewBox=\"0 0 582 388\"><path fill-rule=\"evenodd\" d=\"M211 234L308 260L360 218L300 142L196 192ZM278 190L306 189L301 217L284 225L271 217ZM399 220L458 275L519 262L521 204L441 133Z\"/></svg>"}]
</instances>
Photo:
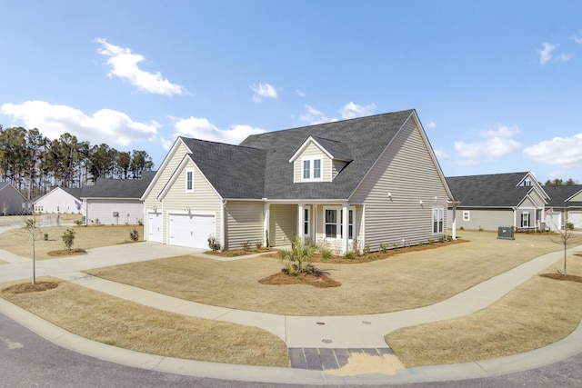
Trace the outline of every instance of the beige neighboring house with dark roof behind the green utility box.
<instances>
[{"instance_id":1,"label":"beige neighboring house with dark roof behind the green utility box","mask_svg":"<svg viewBox=\"0 0 582 388\"><path fill-rule=\"evenodd\" d=\"M447 183L460 203L458 228L497 231L499 226L543 226L549 196L531 173L454 176Z\"/></svg>"}]
</instances>

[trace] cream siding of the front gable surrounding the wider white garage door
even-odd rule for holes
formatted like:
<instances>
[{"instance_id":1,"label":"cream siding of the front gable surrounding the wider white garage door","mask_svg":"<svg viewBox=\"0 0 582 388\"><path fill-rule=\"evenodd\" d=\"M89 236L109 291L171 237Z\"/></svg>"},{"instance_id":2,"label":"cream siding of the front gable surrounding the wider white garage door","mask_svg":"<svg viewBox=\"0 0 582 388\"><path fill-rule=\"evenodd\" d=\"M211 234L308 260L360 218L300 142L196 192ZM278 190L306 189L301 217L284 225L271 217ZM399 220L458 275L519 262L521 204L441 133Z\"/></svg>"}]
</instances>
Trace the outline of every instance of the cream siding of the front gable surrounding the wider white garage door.
<instances>
[{"instance_id":1,"label":"cream siding of the front gable surrounding the wider white garage door","mask_svg":"<svg viewBox=\"0 0 582 388\"><path fill-rule=\"evenodd\" d=\"M186 170L194 168L194 190L186 193ZM172 187L168 190L164 197L164 213L165 213L165 234L164 241L167 234L167 214L186 214L186 208L190 209L191 214L214 214L216 216L216 240L221 238L221 220L220 220L220 206L222 199L214 188L208 183L205 176L192 163L186 164L178 176Z\"/></svg>"}]
</instances>

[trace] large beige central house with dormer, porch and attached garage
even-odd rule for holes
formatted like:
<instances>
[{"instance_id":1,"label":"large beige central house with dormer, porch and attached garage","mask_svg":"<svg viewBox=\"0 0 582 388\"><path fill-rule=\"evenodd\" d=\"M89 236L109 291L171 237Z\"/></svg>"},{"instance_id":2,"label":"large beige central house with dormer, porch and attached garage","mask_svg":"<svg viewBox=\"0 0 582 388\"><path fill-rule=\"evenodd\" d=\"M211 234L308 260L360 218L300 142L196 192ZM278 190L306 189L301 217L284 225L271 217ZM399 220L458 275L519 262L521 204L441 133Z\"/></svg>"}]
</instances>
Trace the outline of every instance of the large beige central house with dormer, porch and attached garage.
<instances>
[{"instance_id":1,"label":"large beige central house with dormer, porch and attached garage","mask_svg":"<svg viewBox=\"0 0 582 388\"><path fill-rule=\"evenodd\" d=\"M255 134L178 137L147 187L146 239L223 249L325 244L339 254L447 234L447 181L416 111Z\"/></svg>"}]
</instances>

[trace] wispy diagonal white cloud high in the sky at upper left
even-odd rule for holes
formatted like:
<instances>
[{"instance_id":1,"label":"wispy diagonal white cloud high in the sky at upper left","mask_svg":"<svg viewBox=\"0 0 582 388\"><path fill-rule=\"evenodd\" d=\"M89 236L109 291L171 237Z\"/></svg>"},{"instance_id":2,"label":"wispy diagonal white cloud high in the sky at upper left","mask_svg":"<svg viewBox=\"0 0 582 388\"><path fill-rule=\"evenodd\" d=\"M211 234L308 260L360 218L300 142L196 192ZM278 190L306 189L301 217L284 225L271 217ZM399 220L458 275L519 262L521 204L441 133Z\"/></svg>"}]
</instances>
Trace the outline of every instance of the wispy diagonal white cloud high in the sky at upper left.
<instances>
[{"instance_id":1,"label":"wispy diagonal white cloud high in the sky at upper left","mask_svg":"<svg viewBox=\"0 0 582 388\"><path fill-rule=\"evenodd\" d=\"M102 45L97 53L108 56L107 64L111 65L109 77L117 76L129 81L139 90L155 95L183 95L183 86L170 83L167 78L157 73L149 73L139 68L138 64L144 61L144 56L132 53L130 49L111 45L105 39L97 38L95 42Z\"/></svg>"}]
</instances>

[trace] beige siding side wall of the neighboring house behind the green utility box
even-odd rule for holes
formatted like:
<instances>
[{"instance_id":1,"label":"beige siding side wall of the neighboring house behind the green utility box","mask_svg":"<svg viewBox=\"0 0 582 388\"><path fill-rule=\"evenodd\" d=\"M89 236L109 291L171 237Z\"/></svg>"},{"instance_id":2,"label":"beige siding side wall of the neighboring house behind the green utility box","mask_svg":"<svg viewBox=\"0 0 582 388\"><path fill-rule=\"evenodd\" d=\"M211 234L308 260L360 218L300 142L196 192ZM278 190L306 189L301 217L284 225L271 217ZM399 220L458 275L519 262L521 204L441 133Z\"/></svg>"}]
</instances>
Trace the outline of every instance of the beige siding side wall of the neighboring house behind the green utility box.
<instances>
[{"instance_id":1,"label":"beige siding side wall of the neighboring house behind the green utility box","mask_svg":"<svg viewBox=\"0 0 582 388\"><path fill-rule=\"evenodd\" d=\"M469 221L463 221L463 212L469 212ZM450 209L448 227L453 222L453 211ZM519 222L519 220L517 220ZM457 208L457 230L460 228L467 230L496 231L499 226L514 226L512 209L472 209Z\"/></svg>"}]
</instances>

